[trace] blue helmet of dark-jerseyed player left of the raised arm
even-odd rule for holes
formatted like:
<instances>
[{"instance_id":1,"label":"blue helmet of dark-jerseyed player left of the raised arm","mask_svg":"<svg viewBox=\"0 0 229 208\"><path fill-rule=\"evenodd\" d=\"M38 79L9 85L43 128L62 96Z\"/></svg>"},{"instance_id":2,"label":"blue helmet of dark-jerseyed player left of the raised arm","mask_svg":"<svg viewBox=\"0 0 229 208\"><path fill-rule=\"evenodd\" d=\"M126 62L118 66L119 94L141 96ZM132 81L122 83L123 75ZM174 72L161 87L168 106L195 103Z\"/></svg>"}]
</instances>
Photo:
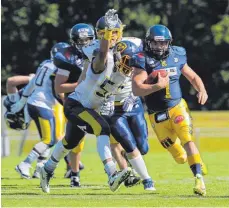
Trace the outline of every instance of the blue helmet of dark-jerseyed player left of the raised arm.
<instances>
[{"instance_id":1,"label":"blue helmet of dark-jerseyed player left of the raised arm","mask_svg":"<svg viewBox=\"0 0 229 208\"><path fill-rule=\"evenodd\" d=\"M95 32L92 26L79 23L70 30L70 42L73 46L81 50L83 46L87 46L95 39Z\"/></svg>"}]
</instances>

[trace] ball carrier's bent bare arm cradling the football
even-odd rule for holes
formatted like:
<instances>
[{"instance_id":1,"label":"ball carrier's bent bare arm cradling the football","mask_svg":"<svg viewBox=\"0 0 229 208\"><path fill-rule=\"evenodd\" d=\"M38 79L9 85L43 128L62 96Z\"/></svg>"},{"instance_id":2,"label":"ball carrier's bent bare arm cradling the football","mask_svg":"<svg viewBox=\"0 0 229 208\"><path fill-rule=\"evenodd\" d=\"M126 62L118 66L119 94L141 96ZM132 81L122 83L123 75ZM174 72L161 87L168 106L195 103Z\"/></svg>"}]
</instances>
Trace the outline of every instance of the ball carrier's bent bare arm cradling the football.
<instances>
[{"instance_id":1,"label":"ball carrier's bent bare arm cradling the football","mask_svg":"<svg viewBox=\"0 0 229 208\"><path fill-rule=\"evenodd\" d=\"M161 77L159 73L158 82L156 84L145 84L144 82L148 77L147 72L135 67L133 67L133 69L132 90L135 96L147 96L165 88L169 83L168 75Z\"/></svg>"}]
</instances>

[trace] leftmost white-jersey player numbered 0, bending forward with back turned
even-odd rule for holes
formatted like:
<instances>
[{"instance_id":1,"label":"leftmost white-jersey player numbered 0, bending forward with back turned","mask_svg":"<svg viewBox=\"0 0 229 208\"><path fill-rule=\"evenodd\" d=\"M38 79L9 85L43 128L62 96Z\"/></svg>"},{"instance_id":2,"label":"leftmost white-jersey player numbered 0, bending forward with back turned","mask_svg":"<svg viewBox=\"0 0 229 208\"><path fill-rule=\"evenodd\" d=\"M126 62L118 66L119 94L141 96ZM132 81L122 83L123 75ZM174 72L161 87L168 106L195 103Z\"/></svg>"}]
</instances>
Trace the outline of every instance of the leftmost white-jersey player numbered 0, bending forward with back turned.
<instances>
[{"instance_id":1,"label":"leftmost white-jersey player numbered 0, bending forward with back turned","mask_svg":"<svg viewBox=\"0 0 229 208\"><path fill-rule=\"evenodd\" d=\"M62 47L66 46L63 44ZM43 61L38 67L36 75L24 88L21 99L11 106L11 112L18 113L27 104L29 116L35 121L41 138L41 141L33 147L26 159L15 168L21 177L26 179L30 178L31 164L42 154L49 151L55 144L56 139L60 139L64 133L63 131L56 131L56 124L61 121L59 119L61 115L55 115L54 111L57 100L61 102L60 97L54 92L52 77L56 70L57 68L52 60ZM62 135L59 135L59 133ZM36 177L39 177L38 171Z\"/></svg>"}]
</instances>

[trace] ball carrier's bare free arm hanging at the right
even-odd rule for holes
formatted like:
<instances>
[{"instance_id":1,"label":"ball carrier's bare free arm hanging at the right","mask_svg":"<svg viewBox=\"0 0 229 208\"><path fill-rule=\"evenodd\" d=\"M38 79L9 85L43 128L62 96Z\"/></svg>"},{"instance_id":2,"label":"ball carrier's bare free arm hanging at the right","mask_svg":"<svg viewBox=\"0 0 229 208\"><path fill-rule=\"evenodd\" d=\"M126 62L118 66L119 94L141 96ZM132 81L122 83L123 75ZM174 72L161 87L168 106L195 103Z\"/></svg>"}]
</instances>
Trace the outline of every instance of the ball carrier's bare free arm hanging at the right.
<instances>
[{"instance_id":1,"label":"ball carrier's bare free arm hanging at the right","mask_svg":"<svg viewBox=\"0 0 229 208\"><path fill-rule=\"evenodd\" d=\"M188 66L188 64L184 65L182 69L182 74L188 79L188 81L198 92L198 103L204 105L208 99L208 94L202 79Z\"/></svg>"}]
</instances>

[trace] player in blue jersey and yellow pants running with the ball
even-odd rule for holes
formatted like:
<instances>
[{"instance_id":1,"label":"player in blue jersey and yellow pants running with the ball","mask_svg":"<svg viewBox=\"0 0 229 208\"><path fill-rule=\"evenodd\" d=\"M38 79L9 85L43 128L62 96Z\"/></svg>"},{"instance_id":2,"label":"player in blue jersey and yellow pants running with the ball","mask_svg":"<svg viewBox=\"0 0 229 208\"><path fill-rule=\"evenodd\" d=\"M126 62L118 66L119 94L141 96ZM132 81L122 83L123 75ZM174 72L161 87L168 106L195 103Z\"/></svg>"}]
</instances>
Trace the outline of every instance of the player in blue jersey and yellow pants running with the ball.
<instances>
[{"instance_id":1,"label":"player in blue jersey and yellow pants running with the ball","mask_svg":"<svg viewBox=\"0 0 229 208\"><path fill-rule=\"evenodd\" d=\"M197 90L198 102L204 105L208 95L201 78L188 66L186 51L171 46L172 35L164 25L154 25L147 31L143 53L132 57L134 67L133 93L144 96L152 127L159 142L175 161L188 161L195 177L193 191L206 195L203 174L207 170L193 142L193 125L187 103L182 98L179 79L183 74ZM166 70L167 76L158 73L156 84L146 84L153 71Z\"/></svg>"}]
</instances>

